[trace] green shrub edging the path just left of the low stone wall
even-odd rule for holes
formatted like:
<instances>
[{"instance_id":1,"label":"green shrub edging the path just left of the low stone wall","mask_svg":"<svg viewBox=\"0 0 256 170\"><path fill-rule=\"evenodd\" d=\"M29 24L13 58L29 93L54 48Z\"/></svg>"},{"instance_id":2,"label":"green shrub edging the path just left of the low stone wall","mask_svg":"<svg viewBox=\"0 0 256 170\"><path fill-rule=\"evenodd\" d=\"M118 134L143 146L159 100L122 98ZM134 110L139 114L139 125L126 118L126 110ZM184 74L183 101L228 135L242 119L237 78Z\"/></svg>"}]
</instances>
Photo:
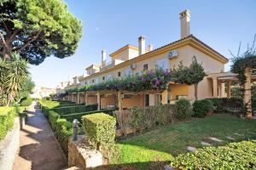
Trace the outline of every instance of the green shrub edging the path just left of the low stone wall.
<instances>
[{"instance_id":1,"label":"green shrub edging the path just left of the low stone wall","mask_svg":"<svg viewBox=\"0 0 256 170\"><path fill-rule=\"evenodd\" d=\"M67 155L68 138L73 134L73 124L66 119L58 119L55 123L55 135L61 144L61 148Z\"/></svg>"}]
</instances>

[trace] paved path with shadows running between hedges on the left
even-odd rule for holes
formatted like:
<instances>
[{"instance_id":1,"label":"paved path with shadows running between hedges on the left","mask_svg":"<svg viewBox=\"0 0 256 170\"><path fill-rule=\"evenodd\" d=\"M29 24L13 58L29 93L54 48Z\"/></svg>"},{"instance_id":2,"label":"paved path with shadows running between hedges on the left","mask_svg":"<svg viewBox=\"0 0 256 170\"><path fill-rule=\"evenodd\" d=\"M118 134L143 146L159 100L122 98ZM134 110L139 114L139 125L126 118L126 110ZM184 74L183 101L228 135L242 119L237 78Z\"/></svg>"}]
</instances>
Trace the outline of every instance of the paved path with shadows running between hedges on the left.
<instances>
[{"instance_id":1,"label":"paved path with shadows running between hedges on the left","mask_svg":"<svg viewBox=\"0 0 256 170\"><path fill-rule=\"evenodd\" d=\"M28 110L26 126L20 130L20 150L14 170L59 170L67 160L55 140L47 119L34 103Z\"/></svg>"}]
</instances>

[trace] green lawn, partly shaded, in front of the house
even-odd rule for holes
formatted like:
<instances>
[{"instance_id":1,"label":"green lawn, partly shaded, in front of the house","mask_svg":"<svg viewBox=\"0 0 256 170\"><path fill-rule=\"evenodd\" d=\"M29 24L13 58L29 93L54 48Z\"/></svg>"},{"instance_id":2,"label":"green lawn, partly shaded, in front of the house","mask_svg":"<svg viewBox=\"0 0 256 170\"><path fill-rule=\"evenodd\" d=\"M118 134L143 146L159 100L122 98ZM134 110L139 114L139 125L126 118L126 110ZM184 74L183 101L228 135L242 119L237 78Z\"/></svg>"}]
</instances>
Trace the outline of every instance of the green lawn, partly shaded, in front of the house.
<instances>
[{"instance_id":1,"label":"green lawn, partly shaded, in front of the house","mask_svg":"<svg viewBox=\"0 0 256 170\"><path fill-rule=\"evenodd\" d=\"M228 136L233 139L228 139ZM208 137L223 142L212 141ZM172 161L174 156L188 152L187 146L206 147L201 141L217 146L248 139L256 139L256 120L224 114L192 119L118 141L121 152L119 164L148 169L152 162Z\"/></svg>"}]
</instances>

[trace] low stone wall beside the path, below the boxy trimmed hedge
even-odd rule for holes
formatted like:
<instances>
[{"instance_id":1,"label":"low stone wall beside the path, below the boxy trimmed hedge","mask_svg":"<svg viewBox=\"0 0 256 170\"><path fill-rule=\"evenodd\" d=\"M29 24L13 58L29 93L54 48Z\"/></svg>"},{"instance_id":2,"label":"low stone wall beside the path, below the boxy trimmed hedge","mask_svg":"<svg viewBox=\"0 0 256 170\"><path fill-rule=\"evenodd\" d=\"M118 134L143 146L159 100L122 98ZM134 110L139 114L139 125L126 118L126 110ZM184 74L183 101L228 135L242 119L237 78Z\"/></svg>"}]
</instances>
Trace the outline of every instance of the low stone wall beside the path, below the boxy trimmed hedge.
<instances>
[{"instance_id":1,"label":"low stone wall beside the path, below the boxy trimmed hedge","mask_svg":"<svg viewBox=\"0 0 256 170\"><path fill-rule=\"evenodd\" d=\"M85 144L84 135L79 135L78 140L68 140L68 167L80 167L86 169L103 165L101 152L91 150L89 144Z\"/></svg>"}]
</instances>

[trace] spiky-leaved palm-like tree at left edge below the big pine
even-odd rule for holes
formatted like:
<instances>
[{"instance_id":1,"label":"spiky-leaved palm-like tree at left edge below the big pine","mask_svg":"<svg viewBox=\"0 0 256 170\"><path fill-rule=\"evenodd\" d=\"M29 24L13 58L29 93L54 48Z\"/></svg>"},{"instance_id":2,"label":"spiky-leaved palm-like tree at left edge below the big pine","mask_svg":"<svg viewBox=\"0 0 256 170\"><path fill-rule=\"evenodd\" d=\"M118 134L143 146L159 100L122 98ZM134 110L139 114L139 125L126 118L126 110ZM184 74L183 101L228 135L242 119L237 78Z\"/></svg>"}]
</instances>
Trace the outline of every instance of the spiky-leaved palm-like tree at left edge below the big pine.
<instances>
[{"instance_id":1,"label":"spiky-leaved palm-like tree at left edge below the big pine","mask_svg":"<svg viewBox=\"0 0 256 170\"><path fill-rule=\"evenodd\" d=\"M25 59L15 53L12 60L0 59L0 105L10 105L29 78Z\"/></svg>"}]
</instances>

